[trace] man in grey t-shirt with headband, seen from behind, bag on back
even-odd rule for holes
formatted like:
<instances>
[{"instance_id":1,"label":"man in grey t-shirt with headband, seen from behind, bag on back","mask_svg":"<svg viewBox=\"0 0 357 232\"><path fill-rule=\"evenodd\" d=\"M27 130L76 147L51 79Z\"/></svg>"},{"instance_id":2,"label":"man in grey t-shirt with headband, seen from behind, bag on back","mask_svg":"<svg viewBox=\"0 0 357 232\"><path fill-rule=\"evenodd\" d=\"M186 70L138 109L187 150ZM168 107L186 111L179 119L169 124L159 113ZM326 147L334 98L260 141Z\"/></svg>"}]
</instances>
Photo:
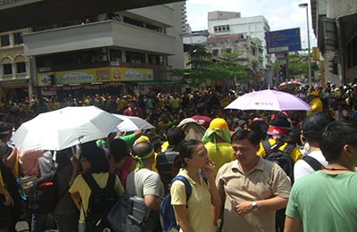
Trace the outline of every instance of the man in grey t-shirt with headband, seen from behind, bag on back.
<instances>
[{"instance_id":1,"label":"man in grey t-shirt with headband, seen from behind, bag on back","mask_svg":"<svg viewBox=\"0 0 357 232\"><path fill-rule=\"evenodd\" d=\"M154 146L146 141L137 143L132 148L132 156L137 161L137 169L128 175L126 192L144 198L145 206L158 214L164 188L159 174L152 170ZM158 224L160 226L159 220Z\"/></svg>"}]
</instances>

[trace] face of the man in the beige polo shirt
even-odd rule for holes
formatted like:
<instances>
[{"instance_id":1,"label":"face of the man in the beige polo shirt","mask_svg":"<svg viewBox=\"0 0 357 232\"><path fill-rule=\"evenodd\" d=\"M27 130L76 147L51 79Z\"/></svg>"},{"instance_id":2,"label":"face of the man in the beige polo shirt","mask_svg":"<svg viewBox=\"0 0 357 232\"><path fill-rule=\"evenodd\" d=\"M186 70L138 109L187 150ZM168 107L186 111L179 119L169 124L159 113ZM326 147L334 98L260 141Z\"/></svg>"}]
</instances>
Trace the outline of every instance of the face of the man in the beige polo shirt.
<instances>
[{"instance_id":1,"label":"face of the man in the beige polo shirt","mask_svg":"<svg viewBox=\"0 0 357 232\"><path fill-rule=\"evenodd\" d=\"M235 140L232 142L233 154L241 165L250 165L256 162L257 152L260 145L252 145L248 139Z\"/></svg>"}]
</instances>

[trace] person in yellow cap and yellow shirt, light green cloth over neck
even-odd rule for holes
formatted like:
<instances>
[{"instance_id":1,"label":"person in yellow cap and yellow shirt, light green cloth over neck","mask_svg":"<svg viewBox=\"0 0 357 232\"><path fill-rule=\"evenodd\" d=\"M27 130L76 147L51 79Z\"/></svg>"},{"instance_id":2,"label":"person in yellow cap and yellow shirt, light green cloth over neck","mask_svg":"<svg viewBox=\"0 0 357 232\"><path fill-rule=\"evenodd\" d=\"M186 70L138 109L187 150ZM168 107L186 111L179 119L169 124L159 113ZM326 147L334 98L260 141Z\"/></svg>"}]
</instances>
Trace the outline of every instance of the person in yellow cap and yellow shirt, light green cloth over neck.
<instances>
[{"instance_id":1,"label":"person in yellow cap and yellow shirt, light green cloth over neck","mask_svg":"<svg viewBox=\"0 0 357 232\"><path fill-rule=\"evenodd\" d=\"M226 120L213 119L203 135L202 142L207 149L208 156L215 164L214 176L223 164L236 159L232 152L230 131Z\"/></svg>"}]
</instances>

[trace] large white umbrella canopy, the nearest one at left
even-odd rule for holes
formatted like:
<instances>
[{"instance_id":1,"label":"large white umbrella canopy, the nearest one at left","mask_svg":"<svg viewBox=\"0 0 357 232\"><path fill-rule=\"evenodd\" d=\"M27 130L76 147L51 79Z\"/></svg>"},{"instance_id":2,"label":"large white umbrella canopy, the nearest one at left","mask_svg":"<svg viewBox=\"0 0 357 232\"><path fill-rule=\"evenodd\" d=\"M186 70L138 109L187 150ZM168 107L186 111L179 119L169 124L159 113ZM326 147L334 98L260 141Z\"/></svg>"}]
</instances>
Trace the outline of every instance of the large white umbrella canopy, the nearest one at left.
<instances>
[{"instance_id":1,"label":"large white umbrella canopy, the nearest one at left","mask_svg":"<svg viewBox=\"0 0 357 232\"><path fill-rule=\"evenodd\" d=\"M59 151L107 137L121 121L95 106L69 106L38 114L23 123L11 140L20 151Z\"/></svg>"}]
</instances>

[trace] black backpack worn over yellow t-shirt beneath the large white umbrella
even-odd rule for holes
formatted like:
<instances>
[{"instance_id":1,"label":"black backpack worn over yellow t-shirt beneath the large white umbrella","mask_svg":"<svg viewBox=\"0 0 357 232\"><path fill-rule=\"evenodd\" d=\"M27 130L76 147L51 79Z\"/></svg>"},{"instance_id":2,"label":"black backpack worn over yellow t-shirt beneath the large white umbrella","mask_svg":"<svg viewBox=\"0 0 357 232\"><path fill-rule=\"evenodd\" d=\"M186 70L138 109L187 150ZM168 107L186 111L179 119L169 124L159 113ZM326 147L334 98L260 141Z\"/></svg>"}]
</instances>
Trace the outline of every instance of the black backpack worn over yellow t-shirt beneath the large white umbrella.
<instances>
[{"instance_id":1,"label":"black backpack worn over yellow t-shirt beneath the large white umbrella","mask_svg":"<svg viewBox=\"0 0 357 232\"><path fill-rule=\"evenodd\" d=\"M92 193L89 196L88 208L85 211L86 232L113 231L107 220L107 215L117 201L114 191L115 174L109 173L104 188L96 184L91 173L83 175Z\"/></svg>"}]
</instances>

